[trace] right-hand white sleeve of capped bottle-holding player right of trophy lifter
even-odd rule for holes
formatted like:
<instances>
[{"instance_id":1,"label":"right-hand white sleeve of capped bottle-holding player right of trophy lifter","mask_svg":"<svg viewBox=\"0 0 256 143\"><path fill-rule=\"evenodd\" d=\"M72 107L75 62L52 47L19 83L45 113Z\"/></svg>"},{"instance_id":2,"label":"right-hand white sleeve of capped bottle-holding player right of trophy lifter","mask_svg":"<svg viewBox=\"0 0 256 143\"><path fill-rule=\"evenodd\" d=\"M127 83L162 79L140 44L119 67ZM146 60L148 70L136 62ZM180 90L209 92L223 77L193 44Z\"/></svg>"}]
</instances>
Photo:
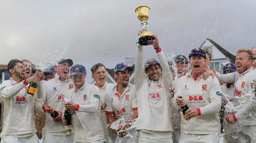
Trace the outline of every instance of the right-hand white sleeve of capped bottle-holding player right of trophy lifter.
<instances>
[{"instance_id":1,"label":"right-hand white sleeve of capped bottle-holding player right of trophy lifter","mask_svg":"<svg viewBox=\"0 0 256 143\"><path fill-rule=\"evenodd\" d=\"M211 80L209 98L210 103L204 107L199 108L201 115L212 114L219 112L221 108L221 93L220 93L220 83L217 78L208 77L207 80Z\"/></svg>"}]
</instances>

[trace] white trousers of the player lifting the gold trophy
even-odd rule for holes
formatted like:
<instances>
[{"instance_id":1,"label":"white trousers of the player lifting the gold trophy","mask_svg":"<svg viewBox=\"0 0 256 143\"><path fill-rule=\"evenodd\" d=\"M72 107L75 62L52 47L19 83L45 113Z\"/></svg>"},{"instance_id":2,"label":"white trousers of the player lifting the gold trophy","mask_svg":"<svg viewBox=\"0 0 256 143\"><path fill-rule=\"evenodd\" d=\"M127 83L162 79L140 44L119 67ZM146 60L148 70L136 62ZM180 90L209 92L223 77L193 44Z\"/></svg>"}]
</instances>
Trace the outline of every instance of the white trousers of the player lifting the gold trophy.
<instances>
[{"instance_id":1,"label":"white trousers of the player lifting the gold trophy","mask_svg":"<svg viewBox=\"0 0 256 143\"><path fill-rule=\"evenodd\" d=\"M158 135L139 131L139 143L173 143L172 132Z\"/></svg>"}]
</instances>

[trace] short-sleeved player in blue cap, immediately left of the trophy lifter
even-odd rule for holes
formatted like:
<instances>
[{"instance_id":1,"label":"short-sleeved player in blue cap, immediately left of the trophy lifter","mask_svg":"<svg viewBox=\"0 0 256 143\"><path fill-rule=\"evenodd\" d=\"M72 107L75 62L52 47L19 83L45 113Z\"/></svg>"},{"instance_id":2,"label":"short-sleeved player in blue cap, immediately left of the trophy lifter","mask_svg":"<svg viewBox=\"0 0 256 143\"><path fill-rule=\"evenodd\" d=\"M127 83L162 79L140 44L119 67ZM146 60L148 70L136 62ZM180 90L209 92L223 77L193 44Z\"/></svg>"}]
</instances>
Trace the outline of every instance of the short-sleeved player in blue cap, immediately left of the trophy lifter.
<instances>
[{"instance_id":1,"label":"short-sleeved player in blue cap, immediately left of the trophy lifter","mask_svg":"<svg viewBox=\"0 0 256 143\"><path fill-rule=\"evenodd\" d=\"M138 118L135 86L129 83L131 71L132 68L125 63L117 64L114 69L116 86L108 90L105 94L106 113L109 125L121 118L124 118L125 123L130 123L132 122L131 120ZM115 143L138 143L138 132L135 129L126 132L122 131L126 130L129 126L130 124L126 124L119 131L115 130L117 134ZM122 134L122 132L124 133ZM127 133L133 137L124 137Z\"/></svg>"}]
</instances>

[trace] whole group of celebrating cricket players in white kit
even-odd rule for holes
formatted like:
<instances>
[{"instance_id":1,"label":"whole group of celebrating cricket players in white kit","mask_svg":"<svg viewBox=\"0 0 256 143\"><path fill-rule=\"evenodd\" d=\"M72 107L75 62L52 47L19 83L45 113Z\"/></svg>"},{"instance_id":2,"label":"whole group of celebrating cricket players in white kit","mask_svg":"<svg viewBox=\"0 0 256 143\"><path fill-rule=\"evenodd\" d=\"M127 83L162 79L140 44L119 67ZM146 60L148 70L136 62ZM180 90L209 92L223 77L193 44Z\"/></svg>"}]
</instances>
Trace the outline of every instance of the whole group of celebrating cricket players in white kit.
<instances>
[{"instance_id":1,"label":"whole group of celebrating cricket players in white kit","mask_svg":"<svg viewBox=\"0 0 256 143\"><path fill-rule=\"evenodd\" d=\"M92 66L93 85L85 82L85 67L71 59L31 77L29 60L11 60L11 78L0 84L1 143L38 143L35 108L46 112L42 143L218 143L220 119L224 142L256 143L256 48L239 49L235 65L225 65L220 74L209 70L212 55L207 50L192 49L189 60L178 55L168 62L156 36L148 43L158 60L144 63L144 47L137 44L134 84L129 82L132 68L125 63L114 68L116 84L106 82L102 63ZM38 84L34 96L27 94L32 82ZM183 115L184 106L189 109ZM72 111L72 125L66 124L65 109ZM53 119L52 110L59 116ZM112 129L119 119L123 126ZM134 120L140 121L136 128Z\"/></svg>"}]
</instances>

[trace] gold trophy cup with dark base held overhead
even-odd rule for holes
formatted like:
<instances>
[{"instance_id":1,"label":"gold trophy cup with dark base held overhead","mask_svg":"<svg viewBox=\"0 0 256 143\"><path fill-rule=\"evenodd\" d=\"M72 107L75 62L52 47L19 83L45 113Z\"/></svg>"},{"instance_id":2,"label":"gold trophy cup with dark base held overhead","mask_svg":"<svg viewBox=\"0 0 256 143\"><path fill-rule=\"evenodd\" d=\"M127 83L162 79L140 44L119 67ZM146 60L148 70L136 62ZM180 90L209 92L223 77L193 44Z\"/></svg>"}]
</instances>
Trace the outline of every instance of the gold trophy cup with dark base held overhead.
<instances>
[{"instance_id":1,"label":"gold trophy cup with dark base held overhead","mask_svg":"<svg viewBox=\"0 0 256 143\"><path fill-rule=\"evenodd\" d=\"M148 15L149 15L150 8L147 6L139 6L135 9L135 12L138 16L138 19L142 22L141 26L143 29L147 30L148 28ZM155 37L150 31L144 31L138 35L136 42L140 45L149 45L148 40L154 40Z\"/></svg>"}]
</instances>

